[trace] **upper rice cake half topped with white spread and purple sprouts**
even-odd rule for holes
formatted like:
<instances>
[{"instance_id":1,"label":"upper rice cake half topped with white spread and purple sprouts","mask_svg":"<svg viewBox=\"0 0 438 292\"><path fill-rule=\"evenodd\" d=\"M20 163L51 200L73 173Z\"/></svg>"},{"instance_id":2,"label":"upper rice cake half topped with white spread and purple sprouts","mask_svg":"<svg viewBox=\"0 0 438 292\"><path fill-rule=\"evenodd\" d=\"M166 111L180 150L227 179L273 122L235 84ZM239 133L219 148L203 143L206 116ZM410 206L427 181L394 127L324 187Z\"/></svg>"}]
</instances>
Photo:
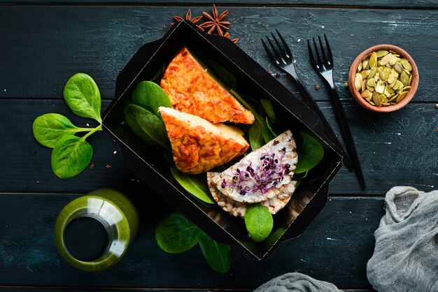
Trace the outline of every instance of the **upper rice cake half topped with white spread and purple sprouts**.
<instances>
[{"instance_id":1,"label":"upper rice cake half topped with white spread and purple sprouts","mask_svg":"<svg viewBox=\"0 0 438 292\"><path fill-rule=\"evenodd\" d=\"M222 194L237 202L262 202L295 191L290 182L297 161L297 145L288 130L213 177L212 181Z\"/></svg>"}]
</instances>

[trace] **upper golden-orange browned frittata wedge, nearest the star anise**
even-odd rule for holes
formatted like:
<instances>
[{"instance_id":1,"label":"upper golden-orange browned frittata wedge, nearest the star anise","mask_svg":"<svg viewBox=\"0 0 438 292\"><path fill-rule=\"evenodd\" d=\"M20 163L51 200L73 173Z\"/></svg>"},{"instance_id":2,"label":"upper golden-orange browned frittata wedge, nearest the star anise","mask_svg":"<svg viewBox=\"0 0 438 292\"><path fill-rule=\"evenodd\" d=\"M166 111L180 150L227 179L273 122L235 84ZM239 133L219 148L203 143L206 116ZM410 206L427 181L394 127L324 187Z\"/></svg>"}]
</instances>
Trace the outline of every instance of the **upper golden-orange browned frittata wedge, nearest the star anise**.
<instances>
[{"instance_id":1,"label":"upper golden-orange browned frittata wedge, nearest the star anise","mask_svg":"<svg viewBox=\"0 0 438 292\"><path fill-rule=\"evenodd\" d=\"M161 87L174 109L209 122L253 124L254 116L243 108L183 47L167 66Z\"/></svg>"}]
</instances>

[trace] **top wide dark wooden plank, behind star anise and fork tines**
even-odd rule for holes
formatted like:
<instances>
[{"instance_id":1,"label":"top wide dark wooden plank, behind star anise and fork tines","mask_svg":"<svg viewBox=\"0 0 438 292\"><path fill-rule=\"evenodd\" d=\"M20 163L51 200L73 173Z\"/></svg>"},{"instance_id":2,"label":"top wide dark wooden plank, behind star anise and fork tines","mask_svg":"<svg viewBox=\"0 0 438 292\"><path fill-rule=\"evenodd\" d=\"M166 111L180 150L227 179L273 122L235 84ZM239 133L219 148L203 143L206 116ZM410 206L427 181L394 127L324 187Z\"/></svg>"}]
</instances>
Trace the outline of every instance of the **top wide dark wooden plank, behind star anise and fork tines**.
<instances>
[{"instance_id":1,"label":"top wide dark wooden plank, behind star anise and fork tines","mask_svg":"<svg viewBox=\"0 0 438 292\"><path fill-rule=\"evenodd\" d=\"M192 7L194 15L210 7ZM0 6L0 98L61 98L64 82L77 72L92 75L103 98L113 98L115 78L144 43L169 29L172 15L186 8L164 6ZM360 15L360 17L359 17ZM326 33L335 56L334 80L341 98L354 57L379 43L400 45L420 72L414 101L436 102L438 10L233 7L227 19L238 45L269 71L260 43L269 31L283 33L297 59L297 70L313 96L327 101L325 89L309 64L306 38ZM300 41L299 41L300 40ZM284 76L281 82L297 92Z\"/></svg>"}]
</instances>

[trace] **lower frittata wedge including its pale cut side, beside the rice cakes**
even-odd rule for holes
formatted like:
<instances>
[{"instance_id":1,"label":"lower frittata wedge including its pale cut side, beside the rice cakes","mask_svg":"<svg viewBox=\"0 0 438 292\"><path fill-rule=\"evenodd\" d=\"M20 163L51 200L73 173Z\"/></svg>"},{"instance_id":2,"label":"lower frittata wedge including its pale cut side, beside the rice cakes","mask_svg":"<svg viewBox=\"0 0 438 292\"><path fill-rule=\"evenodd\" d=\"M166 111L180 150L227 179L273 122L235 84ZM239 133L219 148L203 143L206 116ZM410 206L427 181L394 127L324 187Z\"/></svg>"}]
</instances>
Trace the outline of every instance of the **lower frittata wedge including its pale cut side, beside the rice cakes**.
<instances>
[{"instance_id":1,"label":"lower frittata wedge including its pale cut side, beside the rice cakes","mask_svg":"<svg viewBox=\"0 0 438 292\"><path fill-rule=\"evenodd\" d=\"M242 155L249 144L243 131L225 124L211 122L160 107L172 147L176 168L183 173L204 173Z\"/></svg>"}]
</instances>

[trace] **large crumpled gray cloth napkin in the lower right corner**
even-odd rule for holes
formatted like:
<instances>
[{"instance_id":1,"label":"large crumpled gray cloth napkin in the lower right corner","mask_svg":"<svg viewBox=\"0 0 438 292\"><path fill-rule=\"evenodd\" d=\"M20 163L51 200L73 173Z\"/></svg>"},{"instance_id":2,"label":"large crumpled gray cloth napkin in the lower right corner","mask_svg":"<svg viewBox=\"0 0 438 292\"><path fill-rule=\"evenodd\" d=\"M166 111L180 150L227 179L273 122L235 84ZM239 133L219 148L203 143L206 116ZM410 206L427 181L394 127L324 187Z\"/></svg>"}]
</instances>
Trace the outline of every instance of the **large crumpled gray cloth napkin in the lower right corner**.
<instances>
[{"instance_id":1,"label":"large crumpled gray cloth napkin in the lower right corner","mask_svg":"<svg viewBox=\"0 0 438 292\"><path fill-rule=\"evenodd\" d=\"M374 289L438 291L438 191L393 187L367 264Z\"/></svg>"}]
</instances>

